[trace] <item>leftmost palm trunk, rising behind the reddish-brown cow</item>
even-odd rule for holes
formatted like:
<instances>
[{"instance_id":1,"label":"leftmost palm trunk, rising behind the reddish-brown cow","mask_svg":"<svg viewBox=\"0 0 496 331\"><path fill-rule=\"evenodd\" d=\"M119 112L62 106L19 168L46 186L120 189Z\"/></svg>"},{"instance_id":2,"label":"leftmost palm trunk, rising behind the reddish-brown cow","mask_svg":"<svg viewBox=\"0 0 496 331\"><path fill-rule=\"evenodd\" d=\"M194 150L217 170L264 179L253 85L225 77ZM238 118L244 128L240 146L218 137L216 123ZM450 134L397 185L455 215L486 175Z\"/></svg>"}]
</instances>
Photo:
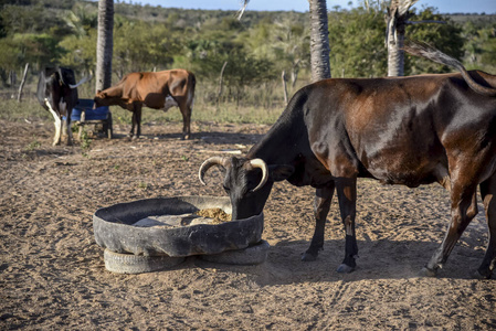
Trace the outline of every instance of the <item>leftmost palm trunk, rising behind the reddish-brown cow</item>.
<instances>
[{"instance_id":1,"label":"leftmost palm trunk, rising behind the reddish-brown cow","mask_svg":"<svg viewBox=\"0 0 496 331\"><path fill-rule=\"evenodd\" d=\"M98 38L96 42L96 90L112 85L114 47L114 0L98 1Z\"/></svg>"}]
</instances>

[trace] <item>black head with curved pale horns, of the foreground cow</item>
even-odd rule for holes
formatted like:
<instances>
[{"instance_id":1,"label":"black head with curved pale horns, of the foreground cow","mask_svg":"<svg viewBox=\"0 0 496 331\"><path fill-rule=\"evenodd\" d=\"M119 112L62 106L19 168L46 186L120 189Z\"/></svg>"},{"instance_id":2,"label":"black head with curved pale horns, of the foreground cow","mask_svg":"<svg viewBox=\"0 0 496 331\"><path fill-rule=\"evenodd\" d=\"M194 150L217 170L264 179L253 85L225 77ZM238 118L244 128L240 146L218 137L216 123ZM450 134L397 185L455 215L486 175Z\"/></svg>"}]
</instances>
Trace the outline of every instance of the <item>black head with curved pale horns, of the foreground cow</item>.
<instances>
[{"instance_id":1,"label":"black head with curved pale horns, of the foreground cow","mask_svg":"<svg viewBox=\"0 0 496 331\"><path fill-rule=\"evenodd\" d=\"M262 213L274 182L287 179L292 166L267 166L262 159L213 157L201 164L200 181L213 166L225 169L223 186L232 204L232 218L242 220Z\"/></svg>"}]
</instances>

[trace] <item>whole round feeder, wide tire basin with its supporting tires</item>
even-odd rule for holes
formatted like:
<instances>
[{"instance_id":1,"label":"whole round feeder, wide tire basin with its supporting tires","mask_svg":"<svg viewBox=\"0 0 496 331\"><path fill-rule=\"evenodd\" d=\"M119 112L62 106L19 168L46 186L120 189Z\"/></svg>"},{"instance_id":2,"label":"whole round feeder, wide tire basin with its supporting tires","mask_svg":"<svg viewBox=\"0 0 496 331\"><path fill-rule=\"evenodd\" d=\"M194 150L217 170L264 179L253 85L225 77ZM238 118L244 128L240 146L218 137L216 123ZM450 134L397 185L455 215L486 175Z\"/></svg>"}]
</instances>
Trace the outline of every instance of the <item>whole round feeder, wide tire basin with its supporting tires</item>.
<instances>
[{"instance_id":1,"label":"whole round feeder, wide tire basin with its supporting tires","mask_svg":"<svg viewBox=\"0 0 496 331\"><path fill-rule=\"evenodd\" d=\"M262 241L263 213L219 224L190 223L191 214L212 207L231 213L225 196L156 197L97 210L93 229L96 243L106 248L106 268L120 274L156 271L171 268L192 255L213 256L204 259L240 265L265 260L268 243ZM170 215L176 223L136 225L162 215Z\"/></svg>"}]
</instances>

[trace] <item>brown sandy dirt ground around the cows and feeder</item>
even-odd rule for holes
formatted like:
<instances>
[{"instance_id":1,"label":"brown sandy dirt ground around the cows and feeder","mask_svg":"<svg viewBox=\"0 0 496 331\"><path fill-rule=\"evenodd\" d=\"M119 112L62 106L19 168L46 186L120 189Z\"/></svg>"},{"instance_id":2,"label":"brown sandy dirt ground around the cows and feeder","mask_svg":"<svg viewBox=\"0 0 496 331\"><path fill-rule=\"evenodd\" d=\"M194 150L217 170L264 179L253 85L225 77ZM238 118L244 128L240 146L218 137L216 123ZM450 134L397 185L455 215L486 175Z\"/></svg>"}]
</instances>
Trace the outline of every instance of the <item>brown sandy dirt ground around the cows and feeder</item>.
<instances>
[{"instance_id":1,"label":"brown sandy dirt ground around the cows and feeder","mask_svg":"<svg viewBox=\"0 0 496 331\"><path fill-rule=\"evenodd\" d=\"M444 236L441 186L359 181L358 268L337 274L344 229L336 202L325 250L300 261L314 222L314 190L276 183L265 205L267 260L229 266L189 257L171 270L105 269L92 215L137 199L223 195L220 173L197 177L208 157L247 149L267 126L149 124L144 138L52 147L51 122L0 121L0 329L12 330L490 330L496 281L473 280L487 243L484 213L437 278L419 277ZM479 205L479 211L483 211Z\"/></svg>"}]
</instances>

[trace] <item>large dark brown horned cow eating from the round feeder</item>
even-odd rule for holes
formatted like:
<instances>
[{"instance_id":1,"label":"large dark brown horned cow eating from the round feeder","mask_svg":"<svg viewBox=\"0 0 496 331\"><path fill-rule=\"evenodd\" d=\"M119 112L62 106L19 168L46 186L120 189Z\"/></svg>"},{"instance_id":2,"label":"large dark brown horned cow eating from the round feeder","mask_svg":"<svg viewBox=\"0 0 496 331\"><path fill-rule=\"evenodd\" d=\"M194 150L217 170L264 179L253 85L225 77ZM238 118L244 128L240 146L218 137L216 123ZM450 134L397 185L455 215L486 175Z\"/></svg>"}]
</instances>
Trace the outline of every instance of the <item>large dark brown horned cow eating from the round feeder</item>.
<instances>
[{"instance_id":1,"label":"large dark brown horned cow eating from the round feeder","mask_svg":"<svg viewBox=\"0 0 496 331\"><path fill-rule=\"evenodd\" d=\"M262 212L276 181L312 185L316 228L304 260L315 260L336 190L345 225L340 273L356 267L357 178L415 188L433 182L450 191L452 220L423 269L434 276L477 213L481 188L489 227L476 276L496 264L496 76L472 71L433 49L409 52L453 65L462 74L373 79L327 79L298 90L281 118L245 158L214 157L200 167L225 169L233 220Z\"/></svg>"}]
</instances>

